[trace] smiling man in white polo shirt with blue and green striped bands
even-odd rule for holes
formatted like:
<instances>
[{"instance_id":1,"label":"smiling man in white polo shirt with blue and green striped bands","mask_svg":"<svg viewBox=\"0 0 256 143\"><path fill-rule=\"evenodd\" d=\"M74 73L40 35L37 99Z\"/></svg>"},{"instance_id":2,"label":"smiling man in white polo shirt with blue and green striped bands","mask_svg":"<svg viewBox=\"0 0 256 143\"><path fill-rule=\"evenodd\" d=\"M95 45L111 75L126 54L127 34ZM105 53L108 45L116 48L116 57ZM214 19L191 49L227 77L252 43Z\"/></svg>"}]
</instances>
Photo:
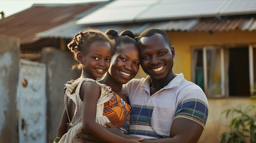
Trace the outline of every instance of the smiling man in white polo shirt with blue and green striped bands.
<instances>
[{"instance_id":1,"label":"smiling man in white polo shirt with blue and green striped bands","mask_svg":"<svg viewBox=\"0 0 256 143\"><path fill-rule=\"evenodd\" d=\"M149 76L123 86L131 102L128 134L143 142L197 142L208 116L202 89L172 71L175 50L164 31L145 30L138 45L141 67Z\"/></svg>"}]
</instances>

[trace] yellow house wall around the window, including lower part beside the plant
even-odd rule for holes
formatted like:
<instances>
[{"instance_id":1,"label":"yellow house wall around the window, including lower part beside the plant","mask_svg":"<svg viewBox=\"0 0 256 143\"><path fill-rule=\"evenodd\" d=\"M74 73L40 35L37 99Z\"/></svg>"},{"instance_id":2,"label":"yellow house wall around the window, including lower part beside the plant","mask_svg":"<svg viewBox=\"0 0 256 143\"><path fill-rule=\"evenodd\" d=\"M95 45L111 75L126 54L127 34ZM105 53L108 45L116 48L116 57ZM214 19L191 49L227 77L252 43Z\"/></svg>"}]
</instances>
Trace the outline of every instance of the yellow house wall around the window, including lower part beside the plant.
<instances>
[{"instance_id":1,"label":"yellow house wall around the window, including lower part beside the plant","mask_svg":"<svg viewBox=\"0 0 256 143\"><path fill-rule=\"evenodd\" d=\"M174 73L183 73L187 80L192 80L192 46L203 45L248 45L256 43L256 32L242 32L233 30L229 32L167 32L171 43L175 48ZM239 57L238 57L239 58ZM224 125L228 125L231 119L225 119L221 111L239 104L248 105L255 101L248 98L223 98L208 99L209 115L205 130L199 142L220 142L221 133L228 131Z\"/></svg>"}]
</instances>

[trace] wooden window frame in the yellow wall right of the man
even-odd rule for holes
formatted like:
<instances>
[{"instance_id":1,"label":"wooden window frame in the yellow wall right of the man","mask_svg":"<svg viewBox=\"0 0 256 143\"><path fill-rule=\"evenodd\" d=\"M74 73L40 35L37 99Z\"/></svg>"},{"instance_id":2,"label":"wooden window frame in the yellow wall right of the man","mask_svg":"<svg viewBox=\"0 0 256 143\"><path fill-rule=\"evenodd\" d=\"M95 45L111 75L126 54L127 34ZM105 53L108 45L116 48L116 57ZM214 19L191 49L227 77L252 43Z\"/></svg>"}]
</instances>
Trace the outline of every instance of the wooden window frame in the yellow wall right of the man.
<instances>
[{"instance_id":1,"label":"wooden window frame in the yellow wall right of the man","mask_svg":"<svg viewBox=\"0 0 256 143\"><path fill-rule=\"evenodd\" d=\"M202 46L192 46L191 47L191 64L192 64L192 82L195 83L195 79L196 79L196 62L195 62L195 51L197 49L202 49L202 53L203 53L203 85L204 85L204 92L206 94L207 97L213 97L213 98L224 98L224 97L230 97L229 95L229 90L227 89L227 87L229 86L228 81L226 81L226 71L225 71L225 57L224 57L224 53L225 53L225 49L230 49L230 48L237 48L239 46L245 46L248 47L248 57L249 57L249 88L250 90L250 95L249 96L255 96L256 92L254 89L254 83L256 81L254 81L254 50L256 50L256 43L255 44L237 44L237 45L202 45ZM207 49L220 49L220 70L221 70L221 95L208 95L208 75L207 75Z\"/></svg>"}]
</instances>

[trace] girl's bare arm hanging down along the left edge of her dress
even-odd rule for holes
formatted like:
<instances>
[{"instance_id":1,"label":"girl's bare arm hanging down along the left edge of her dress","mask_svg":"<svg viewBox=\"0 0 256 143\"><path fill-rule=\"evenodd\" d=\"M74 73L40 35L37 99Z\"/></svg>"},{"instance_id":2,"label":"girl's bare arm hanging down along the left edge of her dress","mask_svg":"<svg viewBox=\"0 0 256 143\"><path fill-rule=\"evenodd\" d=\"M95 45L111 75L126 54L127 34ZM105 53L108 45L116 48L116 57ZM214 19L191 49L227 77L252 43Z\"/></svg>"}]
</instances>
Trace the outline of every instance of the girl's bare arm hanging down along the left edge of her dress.
<instances>
[{"instance_id":1,"label":"girl's bare arm hanging down along the left edge of her dress","mask_svg":"<svg viewBox=\"0 0 256 143\"><path fill-rule=\"evenodd\" d=\"M60 125L58 125L56 137L61 138L67 132L67 123L69 123L69 119L67 118L67 111L64 108L64 111L62 113L62 117L60 120Z\"/></svg>"}]
</instances>

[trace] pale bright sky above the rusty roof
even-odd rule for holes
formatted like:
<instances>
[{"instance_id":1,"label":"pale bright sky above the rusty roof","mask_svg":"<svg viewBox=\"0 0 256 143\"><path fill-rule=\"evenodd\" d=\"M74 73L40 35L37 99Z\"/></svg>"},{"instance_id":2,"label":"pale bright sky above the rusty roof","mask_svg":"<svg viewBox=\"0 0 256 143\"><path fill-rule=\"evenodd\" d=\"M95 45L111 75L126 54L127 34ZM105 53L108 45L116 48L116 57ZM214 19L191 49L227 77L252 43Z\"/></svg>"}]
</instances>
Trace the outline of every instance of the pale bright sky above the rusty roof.
<instances>
[{"instance_id":1,"label":"pale bright sky above the rusty roof","mask_svg":"<svg viewBox=\"0 0 256 143\"><path fill-rule=\"evenodd\" d=\"M70 4L84 3L100 0L0 0L0 13L4 11L5 17L16 14L20 11L32 7L33 4ZM106 1L106 0L103 0ZM1 17L1 16L0 16Z\"/></svg>"}]
</instances>

